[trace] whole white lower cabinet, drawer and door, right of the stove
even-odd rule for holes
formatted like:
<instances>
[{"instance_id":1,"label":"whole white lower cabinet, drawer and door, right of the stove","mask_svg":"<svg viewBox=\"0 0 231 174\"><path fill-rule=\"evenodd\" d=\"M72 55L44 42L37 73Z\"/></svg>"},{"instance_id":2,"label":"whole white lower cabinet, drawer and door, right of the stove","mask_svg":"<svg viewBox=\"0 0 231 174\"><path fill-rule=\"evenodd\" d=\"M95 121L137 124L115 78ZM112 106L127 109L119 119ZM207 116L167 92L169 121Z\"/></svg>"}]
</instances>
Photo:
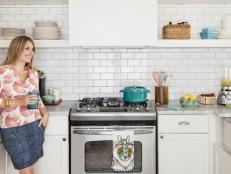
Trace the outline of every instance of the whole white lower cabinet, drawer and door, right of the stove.
<instances>
[{"instance_id":1,"label":"whole white lower cabinet, drawer and door, right of the stove","mask_svg":"<svg viewBox=\"0 0 231 174\"><path fill-rule=\"evenodd\" d=\"M207 115L160 115L159 174L209 174Z\"/></svg>"}]
</instances>

